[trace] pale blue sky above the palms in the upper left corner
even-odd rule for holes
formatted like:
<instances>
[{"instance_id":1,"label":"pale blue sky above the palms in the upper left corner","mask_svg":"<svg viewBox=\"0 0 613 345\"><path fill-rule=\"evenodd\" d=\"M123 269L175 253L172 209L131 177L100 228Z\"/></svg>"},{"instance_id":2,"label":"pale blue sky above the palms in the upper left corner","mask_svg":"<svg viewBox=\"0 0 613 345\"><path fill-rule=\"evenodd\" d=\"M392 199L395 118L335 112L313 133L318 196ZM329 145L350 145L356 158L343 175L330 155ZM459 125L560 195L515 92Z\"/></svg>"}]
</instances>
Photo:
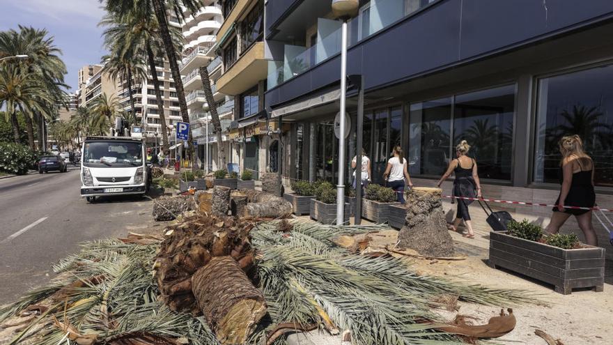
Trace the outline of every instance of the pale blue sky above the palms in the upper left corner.
<instances>
[{"instance_id":1,"label":"pale blue sky above the palms in the upper left corner","mask_svg":"<svg viewBox=\"0 0 613 345\"><path fill-rule=\"evenodd\" d=\"M79 68L100 63L105 54L98 28L102 15L99 0L0 0L0 31L19 24L47 29L62 49L68 68L65 82L75 92Z\"/></svg>"}]
</instances>

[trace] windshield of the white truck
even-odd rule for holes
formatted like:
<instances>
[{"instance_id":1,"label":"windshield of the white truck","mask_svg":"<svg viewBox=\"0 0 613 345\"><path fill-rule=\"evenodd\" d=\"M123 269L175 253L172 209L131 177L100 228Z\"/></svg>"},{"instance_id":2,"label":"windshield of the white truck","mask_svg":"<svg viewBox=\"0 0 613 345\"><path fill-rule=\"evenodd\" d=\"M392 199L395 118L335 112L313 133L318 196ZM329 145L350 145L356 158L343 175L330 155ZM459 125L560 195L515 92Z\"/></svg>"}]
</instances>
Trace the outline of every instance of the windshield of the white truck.
<instances>
[{"instance_id":1,"label":"windshield of the white truck","mask_svg":"<svg viewBox=\"0 0 613 345\"><path fill-rule=\"evenodd\" d=\"M143 162L143 144L130 141L86 142L83 162L96 166L140 165Z\"/></svg>"}]
</instances>

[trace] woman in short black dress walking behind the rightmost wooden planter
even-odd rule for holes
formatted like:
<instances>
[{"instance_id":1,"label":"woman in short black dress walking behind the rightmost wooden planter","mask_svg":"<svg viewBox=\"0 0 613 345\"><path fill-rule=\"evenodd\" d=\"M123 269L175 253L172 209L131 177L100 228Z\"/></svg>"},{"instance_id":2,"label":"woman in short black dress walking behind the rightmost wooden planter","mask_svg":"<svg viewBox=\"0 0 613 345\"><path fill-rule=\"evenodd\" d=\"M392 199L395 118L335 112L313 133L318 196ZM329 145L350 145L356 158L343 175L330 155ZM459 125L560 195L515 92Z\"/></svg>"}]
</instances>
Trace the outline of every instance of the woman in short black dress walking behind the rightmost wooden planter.
<instances>
[{"instance_id":1,"label":"woman in short black dress walking behind the rightmost wooden planter","mask_svg":"<svg viewBox=\"0 0 613 345\"><path fill-rule=\"evenodd\" d=\"M560 139L559 148L562 154L560 163L562 187L545 231L557 233L568 217L574 215L585 235L586 243L596 246L598 238L591 225L591 210L564 208L564 206L592 208L596 204L596 193L593 188L593 161L583 151L583 142L578 135Z\"/></svg>"}]
</instances>

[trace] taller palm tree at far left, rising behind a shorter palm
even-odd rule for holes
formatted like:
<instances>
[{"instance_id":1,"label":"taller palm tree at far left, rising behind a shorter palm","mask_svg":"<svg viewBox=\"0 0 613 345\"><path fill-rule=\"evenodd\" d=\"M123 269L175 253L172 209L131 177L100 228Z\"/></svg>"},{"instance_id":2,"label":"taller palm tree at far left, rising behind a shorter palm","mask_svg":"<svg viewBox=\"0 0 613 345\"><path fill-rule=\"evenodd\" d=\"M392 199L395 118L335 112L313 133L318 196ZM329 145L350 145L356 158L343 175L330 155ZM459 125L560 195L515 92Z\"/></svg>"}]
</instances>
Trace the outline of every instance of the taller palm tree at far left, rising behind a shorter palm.
<instances>
[{"instance_id":1,"label":"taller palm tree at far left, rising behind a shorter palm","mask_svg":"<svg viewBox=\"0 0 613 345\"><path fill-rule=\"evenodd\" d=\"M45 87L45 91L49 94L49 97L38 100L29 112L24 114L29 146L34 149L32 119L37 119L39 139L41 139L44 118L50 118L56 104L65 101L63 89L68 86L64 84L63 76L67 70L59 57L61 50L54 45L53 37L47 38L48 31L46 29L33 29L26 26L19 26L19 29L20 31L0 32L0 57L26 54L28 56L26 60L10 61L6 65L11 64L24 72L36 75L38 82ZM42 140L39 141L42 149Z\"/></svg>"}]
</instances>

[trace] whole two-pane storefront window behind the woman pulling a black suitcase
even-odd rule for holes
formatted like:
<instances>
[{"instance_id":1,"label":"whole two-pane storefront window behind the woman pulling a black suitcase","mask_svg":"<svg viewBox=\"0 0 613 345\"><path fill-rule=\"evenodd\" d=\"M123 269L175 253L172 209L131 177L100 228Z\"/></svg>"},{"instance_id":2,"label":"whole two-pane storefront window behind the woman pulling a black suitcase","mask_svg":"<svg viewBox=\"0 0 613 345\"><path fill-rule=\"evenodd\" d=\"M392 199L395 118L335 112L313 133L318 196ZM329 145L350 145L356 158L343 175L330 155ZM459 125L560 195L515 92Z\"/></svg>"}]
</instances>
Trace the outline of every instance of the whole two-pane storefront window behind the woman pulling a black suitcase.
<instances>
[{"instance_id":1,"label":"whole two-pane storefront window behind the woman pulling a black suitcase","mask_svg":"<svg viewBox=\"0 0 613 345\"><path fill-rule=\"evenodd\" d=\"M479 176L511 180L515 86L502 86L410 106L409 171L438 176L462 140Z\"/></svg>"}]
</instances>

